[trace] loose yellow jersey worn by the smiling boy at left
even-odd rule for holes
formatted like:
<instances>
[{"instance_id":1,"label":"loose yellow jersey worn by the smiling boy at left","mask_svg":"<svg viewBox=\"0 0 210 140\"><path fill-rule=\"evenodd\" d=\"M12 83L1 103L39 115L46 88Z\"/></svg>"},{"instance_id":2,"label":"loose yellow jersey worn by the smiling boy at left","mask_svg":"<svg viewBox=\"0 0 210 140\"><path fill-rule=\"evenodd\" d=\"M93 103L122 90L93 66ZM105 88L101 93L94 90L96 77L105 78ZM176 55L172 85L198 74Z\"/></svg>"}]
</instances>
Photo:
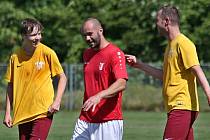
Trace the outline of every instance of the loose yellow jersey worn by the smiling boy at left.
<instances>
[{"instance_id":1,"label":"loose yellow jersey worn by the smiling boy at left","mask_svg":"<svg viewBox=\"0 0 210 140\"><path fill-rule=\"evenodd\" d=\"M54 98L52 77L61 73L56 53L42 43L32 56L23 48L11 55L5 79L13 84L13 125L47 116Z\"/></svg>"}]
</instances>

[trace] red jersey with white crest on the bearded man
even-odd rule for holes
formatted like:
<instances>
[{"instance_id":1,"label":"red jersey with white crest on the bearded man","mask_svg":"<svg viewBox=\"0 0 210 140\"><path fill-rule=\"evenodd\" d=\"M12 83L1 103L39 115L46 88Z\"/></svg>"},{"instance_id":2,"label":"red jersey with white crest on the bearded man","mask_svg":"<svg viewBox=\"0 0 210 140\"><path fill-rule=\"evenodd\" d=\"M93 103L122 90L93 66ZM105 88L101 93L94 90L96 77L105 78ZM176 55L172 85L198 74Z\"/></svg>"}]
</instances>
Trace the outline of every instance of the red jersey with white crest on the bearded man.
<instances>
[{"instance_id":1,"label":"red jersey with white crest on the bearded man","mask_svg":"<svg viewBox=\"0 0 210 140\"><path fill-rule=\"evenodd\" d=\"M95 51L88 48L84 54L84 100L109 88L117 79L128 79L124 53L115 45ZM122 91L111 98L102 99L95 111L81 111L80 119L86 122L101 123L109 120L122 120Z\"/></svg>"}]
</instances>

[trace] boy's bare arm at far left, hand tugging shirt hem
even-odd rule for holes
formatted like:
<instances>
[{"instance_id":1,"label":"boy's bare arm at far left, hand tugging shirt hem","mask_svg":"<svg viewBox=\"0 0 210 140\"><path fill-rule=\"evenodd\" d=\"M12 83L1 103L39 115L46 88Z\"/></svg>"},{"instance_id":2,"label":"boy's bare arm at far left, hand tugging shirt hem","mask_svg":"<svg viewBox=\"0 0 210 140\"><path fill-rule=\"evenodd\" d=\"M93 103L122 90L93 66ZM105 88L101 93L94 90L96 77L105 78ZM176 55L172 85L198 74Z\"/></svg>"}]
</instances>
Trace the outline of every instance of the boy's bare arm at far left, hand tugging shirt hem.
<instances>
[{"instance_id":1,"label":"boy's bare arm at far left, hand tugging shirt hem","mask_svg":"<svg viewBox=\"0 0 210 140\"><path fill-rule=\"evenodd\" d=\"M6 93L6 108L5 108L5 115L4 115L4 125L6 127L12 127L12 118L11 118L11 108L13 103L13 84L8 83L7 85L7 93Z\"/></svg>"}]
</instances>

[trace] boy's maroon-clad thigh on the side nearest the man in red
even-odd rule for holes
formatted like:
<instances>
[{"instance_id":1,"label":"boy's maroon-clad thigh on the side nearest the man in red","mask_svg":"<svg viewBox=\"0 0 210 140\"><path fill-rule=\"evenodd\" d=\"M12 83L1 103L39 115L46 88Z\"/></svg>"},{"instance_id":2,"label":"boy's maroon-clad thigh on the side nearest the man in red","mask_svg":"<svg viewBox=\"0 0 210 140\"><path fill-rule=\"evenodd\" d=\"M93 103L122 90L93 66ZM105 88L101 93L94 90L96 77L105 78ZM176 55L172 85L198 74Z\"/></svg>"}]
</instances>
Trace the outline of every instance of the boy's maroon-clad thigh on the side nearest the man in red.
<instances>
[{"instance_id":1,"label":"boy's maroon-clad thigh on the side nearest the man in red","mask_svg":"<svg viewBox=\"0 0 210 140\"><path fill-rule=\"evenodd\" d=\"M30 140L46 140L53 117L45 117L37 119L33 122L33 128L30 135Z\"/></svg>"}]
</instances>

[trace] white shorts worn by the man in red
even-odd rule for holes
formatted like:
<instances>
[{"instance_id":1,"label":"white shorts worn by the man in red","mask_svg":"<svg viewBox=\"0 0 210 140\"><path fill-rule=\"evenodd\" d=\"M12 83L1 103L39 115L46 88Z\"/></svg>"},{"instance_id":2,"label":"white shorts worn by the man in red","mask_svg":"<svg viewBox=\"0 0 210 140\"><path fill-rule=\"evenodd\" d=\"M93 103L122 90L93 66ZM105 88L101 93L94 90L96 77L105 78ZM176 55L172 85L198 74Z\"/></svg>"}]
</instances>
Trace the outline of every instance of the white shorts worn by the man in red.
<instances>
[{"instance_id":1,"label":"white shorts worn by the man in red","mask_svg":"<svg viewBox=\"0 0 210 140\"><path fill-rule=\"evenodd\" d=\"M88 123L77 120L71 140L122 140L123 120Z\"/></svg>"}]
</instances>

